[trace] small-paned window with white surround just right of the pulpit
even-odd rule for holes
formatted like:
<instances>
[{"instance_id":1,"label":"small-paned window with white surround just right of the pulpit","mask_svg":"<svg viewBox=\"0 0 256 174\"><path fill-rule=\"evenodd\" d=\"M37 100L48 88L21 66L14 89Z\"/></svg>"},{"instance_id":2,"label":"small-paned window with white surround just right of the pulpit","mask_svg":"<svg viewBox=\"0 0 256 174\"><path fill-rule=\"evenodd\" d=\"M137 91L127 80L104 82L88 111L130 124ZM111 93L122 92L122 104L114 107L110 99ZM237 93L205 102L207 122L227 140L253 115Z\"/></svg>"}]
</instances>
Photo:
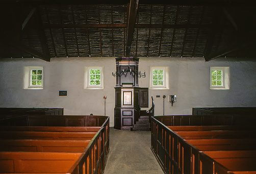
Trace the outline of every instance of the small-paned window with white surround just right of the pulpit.
<instances>
[{"instance_id":1,"label":"small-paned window with white surround just right of the pulpit","mask_svg":"<svg viewBox=\"0 0 256 174\"><path fill-rule=\"evenodd\" d=\"M168 67L150 67L150 88L169 89Z\"/></svg>"}]
</instances>

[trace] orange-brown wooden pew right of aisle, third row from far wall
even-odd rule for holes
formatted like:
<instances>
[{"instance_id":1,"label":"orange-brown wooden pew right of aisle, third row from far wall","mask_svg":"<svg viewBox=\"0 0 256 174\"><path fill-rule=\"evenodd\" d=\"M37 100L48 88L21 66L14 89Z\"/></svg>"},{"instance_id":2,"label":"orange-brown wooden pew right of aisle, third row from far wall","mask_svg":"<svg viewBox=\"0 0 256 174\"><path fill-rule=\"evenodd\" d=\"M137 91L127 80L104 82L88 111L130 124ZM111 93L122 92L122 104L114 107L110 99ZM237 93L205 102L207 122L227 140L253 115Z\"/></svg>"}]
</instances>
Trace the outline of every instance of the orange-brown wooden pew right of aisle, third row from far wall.
<instances>
[{"instance_id":1,"label":"orange-brown wooden pew right of aisle, third row from far wall","mask_svg":"<svg viewBox=\"0 0 256 174\"><path fill-rule=\"evenodd\" d=\"M256 150L255 138L185 140L201 151Z\"/></svg>"}]
</instances>

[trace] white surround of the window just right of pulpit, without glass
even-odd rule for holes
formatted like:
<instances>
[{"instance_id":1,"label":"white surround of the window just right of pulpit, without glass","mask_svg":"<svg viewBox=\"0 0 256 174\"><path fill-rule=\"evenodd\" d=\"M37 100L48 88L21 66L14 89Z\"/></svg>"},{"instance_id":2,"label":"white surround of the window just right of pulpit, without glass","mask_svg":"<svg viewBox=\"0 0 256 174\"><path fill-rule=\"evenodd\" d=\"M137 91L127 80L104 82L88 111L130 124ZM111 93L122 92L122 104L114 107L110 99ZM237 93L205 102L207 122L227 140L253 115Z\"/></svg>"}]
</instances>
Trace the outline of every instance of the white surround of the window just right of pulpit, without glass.
<instances>
[{"instance_id":1,"label":"white surround of the window just right of pulpit, without glass","mask_svg":"<svg viewBox=\"0 0 256 174\"><path fill-rule=\"evenodd\" d=\"M153 71L163 69L163 85L153 85ZM168 66L150 66L150 89L169 89Z\"/></svg>"}]
</instances>

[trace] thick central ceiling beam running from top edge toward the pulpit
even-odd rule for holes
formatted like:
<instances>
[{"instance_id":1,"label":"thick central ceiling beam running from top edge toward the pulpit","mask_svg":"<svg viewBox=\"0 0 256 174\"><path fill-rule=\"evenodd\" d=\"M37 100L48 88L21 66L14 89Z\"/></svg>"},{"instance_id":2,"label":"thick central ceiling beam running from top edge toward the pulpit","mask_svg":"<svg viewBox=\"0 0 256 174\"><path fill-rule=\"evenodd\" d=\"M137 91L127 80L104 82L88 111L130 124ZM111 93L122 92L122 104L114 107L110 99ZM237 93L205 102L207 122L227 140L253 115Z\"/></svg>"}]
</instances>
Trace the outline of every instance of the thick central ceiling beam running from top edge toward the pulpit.
<instances>
[{"instance_id":1,"label":"thick central ceiling beam running from top edge toward the pulpit","mask_svg":"<svg viewBox=\"0 0 256 174\"><path fill-rule=\"evenodd\" d=\"M126 34L126 57L130 56L134 26L138 11L139 0L131 0L129 12L127 14L127 34Z\"/></svg>"}]
</instances>

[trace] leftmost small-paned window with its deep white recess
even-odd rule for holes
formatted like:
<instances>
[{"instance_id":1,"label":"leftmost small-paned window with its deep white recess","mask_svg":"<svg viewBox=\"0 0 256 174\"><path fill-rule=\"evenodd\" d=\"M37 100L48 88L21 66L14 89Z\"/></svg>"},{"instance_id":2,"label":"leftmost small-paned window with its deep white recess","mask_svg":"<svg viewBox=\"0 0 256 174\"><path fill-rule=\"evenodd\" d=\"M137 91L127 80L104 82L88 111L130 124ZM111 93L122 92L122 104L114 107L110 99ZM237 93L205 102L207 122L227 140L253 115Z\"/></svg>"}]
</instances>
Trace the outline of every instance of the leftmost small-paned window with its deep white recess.
<instances>
[{"instance_id":1,"label":"leftmost small-paned window with its deep white recess","mask_svg":"<svg viewBox=\"0 0 256 174\"><path fill-rule=\"evenodd\" d=\"M24 67L24 89L43 89L43 67Z\"/></svg>"}]
</instances>

